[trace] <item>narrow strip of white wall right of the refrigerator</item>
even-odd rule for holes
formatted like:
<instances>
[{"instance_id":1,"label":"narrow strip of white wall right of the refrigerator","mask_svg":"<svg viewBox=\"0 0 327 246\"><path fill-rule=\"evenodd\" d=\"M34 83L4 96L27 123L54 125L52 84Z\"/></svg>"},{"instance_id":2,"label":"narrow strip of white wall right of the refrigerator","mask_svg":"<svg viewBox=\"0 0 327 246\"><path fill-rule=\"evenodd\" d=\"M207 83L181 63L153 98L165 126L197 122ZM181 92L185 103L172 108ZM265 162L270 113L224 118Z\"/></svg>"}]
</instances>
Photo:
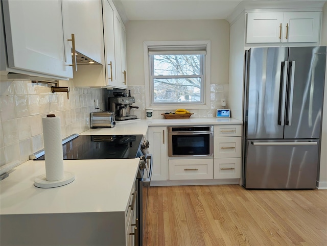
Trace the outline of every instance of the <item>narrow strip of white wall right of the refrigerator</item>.
<instances>
[{"instance_id":1,"label":"narrow strip of white wall right of the refrigerator","mask_svg":"<svg viewBox=\"0 0 327 246\"><path fill-rule=\"evenodd\" d=\"M321 45L327 45L327 2L323 7ZM327 66L326 66L327 71ZM319 188L327 188L327 72L325 73L325 89L322 115L321 154L319 170Z\"/></svg>"}]
</instances>

